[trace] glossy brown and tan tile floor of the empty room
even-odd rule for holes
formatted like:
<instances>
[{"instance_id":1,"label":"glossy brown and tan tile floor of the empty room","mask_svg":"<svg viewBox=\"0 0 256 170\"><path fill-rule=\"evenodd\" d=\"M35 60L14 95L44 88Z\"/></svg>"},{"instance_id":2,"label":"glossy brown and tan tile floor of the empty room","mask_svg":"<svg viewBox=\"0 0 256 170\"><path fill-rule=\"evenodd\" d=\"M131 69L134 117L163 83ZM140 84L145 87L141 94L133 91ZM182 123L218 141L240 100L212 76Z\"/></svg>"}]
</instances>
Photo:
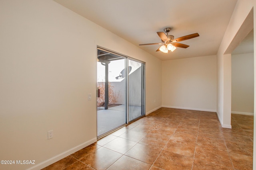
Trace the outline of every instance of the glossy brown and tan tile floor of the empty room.
<instances>
[{"instance_id":1,"label":"glossy brown and tan tile floor of the empty room","mask_svg":"<svg viewBox=\"0 0 256 170\"><path fill-rule=\"evenodd\" d=\"M160 108L43 170L252 170L253 116Z\"/></svg>"}]
</instances>

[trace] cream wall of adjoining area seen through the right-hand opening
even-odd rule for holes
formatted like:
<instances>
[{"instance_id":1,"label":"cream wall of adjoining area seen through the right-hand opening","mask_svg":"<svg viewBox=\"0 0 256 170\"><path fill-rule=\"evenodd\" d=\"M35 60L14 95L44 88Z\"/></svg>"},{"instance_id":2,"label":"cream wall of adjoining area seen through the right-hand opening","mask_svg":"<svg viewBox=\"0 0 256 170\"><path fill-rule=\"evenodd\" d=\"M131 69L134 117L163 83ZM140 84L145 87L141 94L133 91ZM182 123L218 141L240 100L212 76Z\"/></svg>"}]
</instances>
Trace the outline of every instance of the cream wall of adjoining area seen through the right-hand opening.
<instances>
[{"instance_id":1,"label":"cream wall of adjoining area seen through the right-hand opening","mask_svg":"<svg viewBox=\"0 0 256 170\"><path fill-rule=\"evenodd\" d=\"M232 55L232 113L254 114L254 54Z\"/></svg>"}]
</instances>

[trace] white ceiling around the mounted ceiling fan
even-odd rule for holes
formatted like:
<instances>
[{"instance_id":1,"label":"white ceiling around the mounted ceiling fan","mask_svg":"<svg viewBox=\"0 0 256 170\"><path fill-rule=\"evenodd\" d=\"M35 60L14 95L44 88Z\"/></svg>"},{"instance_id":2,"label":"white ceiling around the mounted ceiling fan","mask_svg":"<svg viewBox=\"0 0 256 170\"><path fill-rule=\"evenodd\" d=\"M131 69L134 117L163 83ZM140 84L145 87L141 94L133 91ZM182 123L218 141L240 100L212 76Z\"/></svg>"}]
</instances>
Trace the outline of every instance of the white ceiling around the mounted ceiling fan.
<instances>
[{"instance_id":1,"label":"white ceiling around the mounted ceiling fan","mask_svg":"<svg viewBox=\"0 0 256 170\"><path fill-rule=\"evenodd\" d=\"M237 0L54 0L88 20L161 60L216 55ZM174 38L192 33L199 37L181 41L190 45L172 53L156 50L156 32L171 27ZM111 49L110 49L111 50Z\"/></svg>"}]
</instances>

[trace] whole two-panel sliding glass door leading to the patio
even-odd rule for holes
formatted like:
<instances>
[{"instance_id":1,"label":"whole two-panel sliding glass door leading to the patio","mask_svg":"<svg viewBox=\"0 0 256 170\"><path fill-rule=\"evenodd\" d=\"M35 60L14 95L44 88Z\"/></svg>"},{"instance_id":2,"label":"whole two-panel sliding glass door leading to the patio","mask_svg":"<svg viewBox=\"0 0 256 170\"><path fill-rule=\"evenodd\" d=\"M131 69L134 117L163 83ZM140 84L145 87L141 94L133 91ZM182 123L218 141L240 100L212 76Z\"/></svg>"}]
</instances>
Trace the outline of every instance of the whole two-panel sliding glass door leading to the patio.
<instances>
[{"instance_id":1,"label":"whole two-panel sliding glass door leading to the patio","mask_svg":"<svg viewBox=\"0 0 256 170\"><path fill-rule=\"evenodd\" d=\"M100 138L145 114L145 86L144 63L100 47L97 61L97 136Z\"/></svg>"}]
</instances>

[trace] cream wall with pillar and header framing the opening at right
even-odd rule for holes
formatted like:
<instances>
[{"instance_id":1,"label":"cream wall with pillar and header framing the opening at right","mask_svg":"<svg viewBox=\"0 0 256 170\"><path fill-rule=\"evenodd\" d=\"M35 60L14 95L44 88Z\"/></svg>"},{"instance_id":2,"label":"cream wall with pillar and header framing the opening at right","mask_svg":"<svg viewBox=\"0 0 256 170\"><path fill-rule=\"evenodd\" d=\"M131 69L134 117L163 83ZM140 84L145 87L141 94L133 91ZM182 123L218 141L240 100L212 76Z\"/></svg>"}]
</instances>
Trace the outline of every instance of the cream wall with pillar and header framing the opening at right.
<instances>
[{"instance_id":1,"label":"cream wall with pillar and header framing the opening at right","mask_svg":"<svg viewBox=\"0 0 256 170\"><path fill-rule=\"evenodd\" d=\"M253 28L253 0L238 0L217 53L217 114L231 128L231 53Z\"/></svg>"}]
</instances>

